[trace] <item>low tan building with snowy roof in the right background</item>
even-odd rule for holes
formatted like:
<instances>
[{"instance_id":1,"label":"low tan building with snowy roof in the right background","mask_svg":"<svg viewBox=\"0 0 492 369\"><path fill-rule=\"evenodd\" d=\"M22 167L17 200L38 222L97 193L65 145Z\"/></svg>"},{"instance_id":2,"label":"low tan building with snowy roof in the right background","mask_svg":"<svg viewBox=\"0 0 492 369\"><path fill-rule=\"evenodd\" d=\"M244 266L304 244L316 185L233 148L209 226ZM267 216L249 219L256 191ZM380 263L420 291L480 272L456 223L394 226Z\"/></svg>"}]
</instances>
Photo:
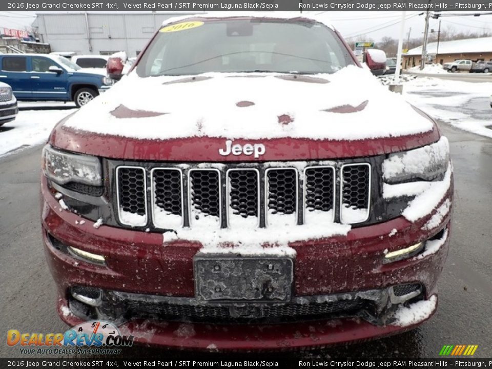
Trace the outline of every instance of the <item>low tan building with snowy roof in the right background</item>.
<instances>
[{"instance_id":1,"label":"low tan building with snowy roof in the right background","mask_svg":"<svg viewBox=\"0 0 492 369\"><path fill-rule=\"evenodd\" d=\"M420 65L422 46L402 55L403 69ZM492 60L492 37L465 38L427 44L427 55L434 63L444 64L458 59Z\"/></svg>"}]
</instances>

